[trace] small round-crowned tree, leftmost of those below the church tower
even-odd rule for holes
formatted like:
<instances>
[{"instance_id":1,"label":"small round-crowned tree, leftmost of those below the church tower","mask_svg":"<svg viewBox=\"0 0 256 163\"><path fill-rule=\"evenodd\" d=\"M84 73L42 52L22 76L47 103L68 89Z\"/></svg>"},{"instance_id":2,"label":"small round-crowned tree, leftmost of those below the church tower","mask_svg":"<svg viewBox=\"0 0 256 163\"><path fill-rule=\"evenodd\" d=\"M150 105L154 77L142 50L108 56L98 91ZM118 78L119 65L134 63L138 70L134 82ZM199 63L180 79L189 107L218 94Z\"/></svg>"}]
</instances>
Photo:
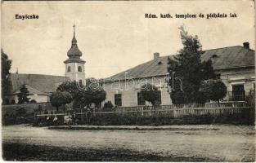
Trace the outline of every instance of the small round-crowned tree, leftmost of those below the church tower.
<instances>
[{"instance_id":1,"label":"small round-crowned tree, leftmost of those below the church tower","mask_svg":"<svg viewBox=\"0 0 256 163\"><path fill-rule=\"evenodd\" d=\"M72 95L66 91L56 91L50 95L50 102L53 107L56 107L56 110L59 110L59 107L64 104L69 104L72 101Z\"/></svg>"}]
</instances>

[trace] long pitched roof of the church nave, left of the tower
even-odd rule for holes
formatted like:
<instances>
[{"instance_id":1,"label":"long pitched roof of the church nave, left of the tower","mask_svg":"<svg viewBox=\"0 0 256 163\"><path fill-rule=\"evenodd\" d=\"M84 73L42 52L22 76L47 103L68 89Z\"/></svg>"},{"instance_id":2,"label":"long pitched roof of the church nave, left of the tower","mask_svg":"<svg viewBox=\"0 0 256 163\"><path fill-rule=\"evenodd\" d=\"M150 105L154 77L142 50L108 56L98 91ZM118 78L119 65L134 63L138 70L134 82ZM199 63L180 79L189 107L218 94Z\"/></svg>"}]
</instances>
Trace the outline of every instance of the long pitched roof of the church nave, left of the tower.
<instances>
[{"instance_id":1,"label":"long pitched roof of the church nave, left of the tower","mask_svg":"<svg viewBox=\"0 0 256 163\"><path fill-rule=\"evenodd\" d=\"M39 92L50 93L56 91L57 86L59 86L62 82L70 81L70 77L42 74L11 73L10 78L12 93L15 93L20 89L20 86L24 84L32 87L34 90L38 90Z\"/></svg>"}]
</instances>

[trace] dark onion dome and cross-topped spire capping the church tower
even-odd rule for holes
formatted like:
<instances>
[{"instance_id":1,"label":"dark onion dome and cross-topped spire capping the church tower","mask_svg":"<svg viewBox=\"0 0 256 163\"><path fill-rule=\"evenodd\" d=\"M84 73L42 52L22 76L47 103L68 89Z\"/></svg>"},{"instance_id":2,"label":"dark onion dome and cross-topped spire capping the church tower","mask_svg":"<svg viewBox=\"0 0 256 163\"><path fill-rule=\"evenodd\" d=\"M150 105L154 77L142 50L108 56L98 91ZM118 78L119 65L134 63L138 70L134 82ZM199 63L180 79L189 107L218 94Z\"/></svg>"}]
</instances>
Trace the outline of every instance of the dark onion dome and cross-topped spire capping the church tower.
<instances>
[{"instance_id":1,"label":"dark onion dome and cross-topped spire capping the church tower","mask_svg":"<svg viewBox=\"0 0 256 163\"><path fill-rule=\"evenodd\" d=\"M73 26L75 27L75 26ZM80 56L82 56L82 52L79 50L79 46L77 44L77 40L75 38L75 33L72 39L72 44L70 47L70 50L67 53L69 59L65 60L65 64L71 63L71 62L78 62L84 64L85 61L83 59L80 59Z\"/></svg>"}]
</instances>

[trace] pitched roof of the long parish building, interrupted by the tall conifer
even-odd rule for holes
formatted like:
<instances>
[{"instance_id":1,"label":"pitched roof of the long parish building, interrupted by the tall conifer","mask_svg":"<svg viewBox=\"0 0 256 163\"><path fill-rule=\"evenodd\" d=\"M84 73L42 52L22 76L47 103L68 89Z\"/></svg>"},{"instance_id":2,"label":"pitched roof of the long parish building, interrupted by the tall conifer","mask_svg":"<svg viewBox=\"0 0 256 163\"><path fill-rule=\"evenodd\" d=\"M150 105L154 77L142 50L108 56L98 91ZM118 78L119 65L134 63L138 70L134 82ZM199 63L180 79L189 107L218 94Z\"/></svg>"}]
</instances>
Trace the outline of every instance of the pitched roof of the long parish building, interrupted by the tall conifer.
<instances>
[{"instance_id":1,"label":"pitched roof of the long parish building, interrupted by the tall conifer","mask_svg":"<svg viewBox=\"0 0 256 163\"><path fill-rule=\"evenodd\" d=\"M109 77L111 81L124 80L125 73L128 78L155 77L166 75L168 67L168 57L175 55L160 56L144 64L139 64L122 73L117 73ZM237 67L255 66L255 51L246 49L243 46L230 46L204 51L201 56L202 61L212 59L213 68L227 69Z\"/></svg>"}]
</instances>

